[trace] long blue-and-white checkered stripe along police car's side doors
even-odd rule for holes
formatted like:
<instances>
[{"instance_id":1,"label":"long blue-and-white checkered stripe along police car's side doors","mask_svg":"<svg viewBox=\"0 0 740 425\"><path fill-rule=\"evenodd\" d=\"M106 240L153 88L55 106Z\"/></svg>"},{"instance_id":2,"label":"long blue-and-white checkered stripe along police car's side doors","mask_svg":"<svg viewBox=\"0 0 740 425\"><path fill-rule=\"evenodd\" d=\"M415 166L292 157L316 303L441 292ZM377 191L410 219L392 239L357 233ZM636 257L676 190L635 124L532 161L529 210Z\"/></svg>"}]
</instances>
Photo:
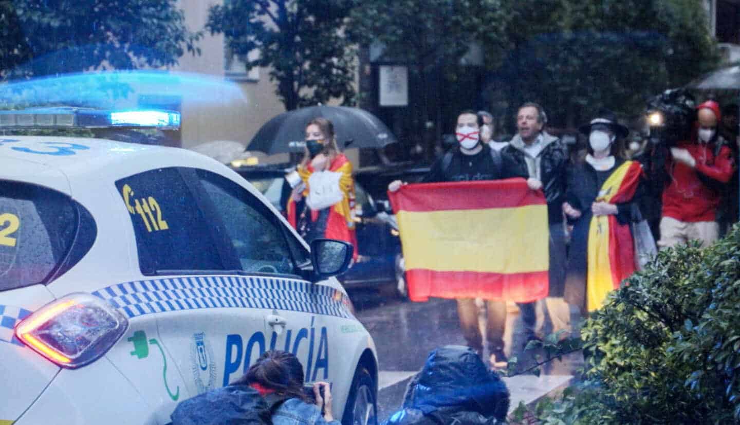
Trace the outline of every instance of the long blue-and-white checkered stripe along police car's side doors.
<instances>
[{"instance_id":1,"label":"long blue-and-white checkered stripe along police car's side doors","mask_svg":"<svg viewBox=\"0 0 740 425\"><path fill-rule=\"evenodd\" d=\"M286 278L193 276L132 281L92 292L129 318L188 309L256 308L352 318L342 292Z\"/></svg>"}]
</instances>

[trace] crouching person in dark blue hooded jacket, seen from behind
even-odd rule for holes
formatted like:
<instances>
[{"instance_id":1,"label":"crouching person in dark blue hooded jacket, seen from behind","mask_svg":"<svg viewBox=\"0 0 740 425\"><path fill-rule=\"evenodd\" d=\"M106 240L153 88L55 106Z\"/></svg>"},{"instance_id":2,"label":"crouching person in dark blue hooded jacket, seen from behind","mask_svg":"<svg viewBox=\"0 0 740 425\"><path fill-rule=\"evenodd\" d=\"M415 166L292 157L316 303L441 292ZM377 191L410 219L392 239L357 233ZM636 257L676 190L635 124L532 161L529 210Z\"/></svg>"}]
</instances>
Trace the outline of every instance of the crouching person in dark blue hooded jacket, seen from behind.
<instances>
[{"instance_id":1,"label":"crouching person in dark blue hooded jacket, seen from behind","mask_svg":"<svg viewBox=\"0 0 740 425\"><path fill-rule=\"evenodd\" d=\"M509 403L506 384L473 349L448 345L429 353L383 425L504 424Z\"/></svg>"}]
</instances>

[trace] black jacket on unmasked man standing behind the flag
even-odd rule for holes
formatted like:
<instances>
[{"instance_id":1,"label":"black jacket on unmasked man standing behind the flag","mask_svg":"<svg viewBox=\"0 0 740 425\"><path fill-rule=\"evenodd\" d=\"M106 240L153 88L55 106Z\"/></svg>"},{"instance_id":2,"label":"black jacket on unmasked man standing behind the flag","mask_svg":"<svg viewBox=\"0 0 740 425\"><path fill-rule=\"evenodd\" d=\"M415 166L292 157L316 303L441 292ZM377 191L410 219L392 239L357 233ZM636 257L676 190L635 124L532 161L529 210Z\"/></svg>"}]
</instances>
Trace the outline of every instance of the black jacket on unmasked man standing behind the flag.
<instances>
[{"instance_id":1,"label":"black jacket on unmasked man standing behind the flag","mask_svg":"<svg viewBox=\"0 0 740 425\"><path fill-rule=\"evenodd\" d=\"M542 133L545 147L537 155L540 159L540 181L542 191L548 201L548 222L562 223L562 203L565 202L565 188L570 157L568 148L559 138L548 133ZM523 150L524 142L519 135L515 135L509 144L501 150L503 177L528 178L529 170Z\"/></svg>"}]
</instances>

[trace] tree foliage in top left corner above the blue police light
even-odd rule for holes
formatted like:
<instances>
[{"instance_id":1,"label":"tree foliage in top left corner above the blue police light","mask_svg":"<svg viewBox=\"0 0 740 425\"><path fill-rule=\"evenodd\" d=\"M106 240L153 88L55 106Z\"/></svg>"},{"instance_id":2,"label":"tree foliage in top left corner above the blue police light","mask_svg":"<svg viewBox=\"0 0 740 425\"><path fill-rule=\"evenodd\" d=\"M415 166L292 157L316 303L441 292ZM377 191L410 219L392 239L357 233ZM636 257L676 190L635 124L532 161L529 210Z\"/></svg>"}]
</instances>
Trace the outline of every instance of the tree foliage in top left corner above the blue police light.
<instances>
[{"instance_id":1,"label":"tree foliage in top left corner above the blue police light","mask_svg":"<svg viewBox=\"0 0 740 425\"><path fill-rule=\"evenodd\" d=\"M176 0L0 0L0 80L177 64L199 54Z\"/></svg>"}]
</instances>

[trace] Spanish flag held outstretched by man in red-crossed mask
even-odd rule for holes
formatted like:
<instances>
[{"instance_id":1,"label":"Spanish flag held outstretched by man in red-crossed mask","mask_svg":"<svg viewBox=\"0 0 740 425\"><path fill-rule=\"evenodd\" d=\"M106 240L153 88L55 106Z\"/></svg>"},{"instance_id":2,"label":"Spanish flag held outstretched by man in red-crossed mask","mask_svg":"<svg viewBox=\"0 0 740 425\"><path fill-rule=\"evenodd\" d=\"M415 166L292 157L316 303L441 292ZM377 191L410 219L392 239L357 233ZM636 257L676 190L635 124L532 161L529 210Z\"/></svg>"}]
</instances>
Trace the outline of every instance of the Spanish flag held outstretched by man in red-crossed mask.
<instances>
[{"instance_id":1,"label":"Spanish flag held outstretched by man in red-crossed mask","mask_svg":"<svg viewBox=\"0 0 740 425\"><path fill-rule=\"evenodd\" d=\"M547 204L524 179L406 184L388 196L411 301L547 296Z\"/></svg>"}]
</instances>

